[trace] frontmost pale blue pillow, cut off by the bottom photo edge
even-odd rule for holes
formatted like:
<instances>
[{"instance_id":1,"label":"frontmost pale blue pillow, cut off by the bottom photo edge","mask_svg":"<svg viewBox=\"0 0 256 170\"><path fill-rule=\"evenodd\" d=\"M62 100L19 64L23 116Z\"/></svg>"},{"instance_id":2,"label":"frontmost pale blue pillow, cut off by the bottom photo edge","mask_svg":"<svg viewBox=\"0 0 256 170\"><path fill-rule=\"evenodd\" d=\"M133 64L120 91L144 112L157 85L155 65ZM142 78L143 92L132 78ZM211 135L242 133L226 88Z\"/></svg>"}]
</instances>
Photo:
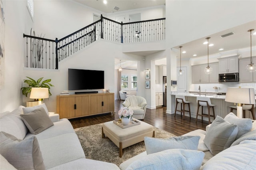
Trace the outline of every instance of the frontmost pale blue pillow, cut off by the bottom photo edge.
<instances>
[{"instance_id":1,"label":"frontmost pale blue pillow, cut off by the bottom photo edge","mask_svg":"<svg viewBox=\"0 0 256 170\"><path fill-rule=\"evenodd\" d=\"M169 149L146 155L130 164L126 170L199 170L204 152Z\"/></svg>"}]
</instances>

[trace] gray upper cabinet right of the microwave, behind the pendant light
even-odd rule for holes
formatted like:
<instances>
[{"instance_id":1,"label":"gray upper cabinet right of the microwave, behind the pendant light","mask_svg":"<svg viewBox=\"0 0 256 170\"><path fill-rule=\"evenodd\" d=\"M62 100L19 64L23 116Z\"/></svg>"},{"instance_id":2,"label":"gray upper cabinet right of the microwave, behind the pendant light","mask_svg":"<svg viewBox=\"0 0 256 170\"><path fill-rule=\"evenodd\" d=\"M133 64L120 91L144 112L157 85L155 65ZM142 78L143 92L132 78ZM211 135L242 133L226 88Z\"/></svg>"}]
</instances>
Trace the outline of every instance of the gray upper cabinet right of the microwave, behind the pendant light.
<instances>
[{"instance_id":1,"label":"gray upper cabinet right of the microwave, behind the pendant light","mask_svg":"<svg viewBox=\"0 0 256 170\"><path fill-rule=\"evenodd\" d=\"M245 67L251 63L251 58L239 59L239 82L253 82L256 73L246 71Z\"/></svg>"}]
</instances>

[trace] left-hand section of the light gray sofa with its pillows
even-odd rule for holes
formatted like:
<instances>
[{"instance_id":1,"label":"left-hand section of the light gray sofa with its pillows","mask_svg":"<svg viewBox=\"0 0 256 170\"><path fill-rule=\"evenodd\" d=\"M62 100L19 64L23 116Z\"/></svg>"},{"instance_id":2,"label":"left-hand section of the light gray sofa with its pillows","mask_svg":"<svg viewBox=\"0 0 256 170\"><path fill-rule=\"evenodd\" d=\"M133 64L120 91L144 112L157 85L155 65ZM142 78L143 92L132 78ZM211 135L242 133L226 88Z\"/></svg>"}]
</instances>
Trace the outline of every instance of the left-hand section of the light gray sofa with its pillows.
<instances>
[{"instance_id":1,"label":"left-hand section of the light gray sofa with its pillows","mask_svg":"<svg viewBox=\"0 0 256 170\"><path fill-rule=\"evenodd\" d=\"M44 108L46 108L45 105ZM70 121L68 119L59 120L58 114L50 115L50 117L47 114L49 119L54 122L52 125L48 125L50 127L42 125L40 128L46 128L45 130L38 134L30 133L20 116L24 113L23 109L24 107L20 106L12 112L1 113L1 170L119 169L115 164L86 159ZM26 111L30 112L30 109L35 108L26 108ZM42 122L42 120L40 121Z\"/></svg>"}]
</instances>

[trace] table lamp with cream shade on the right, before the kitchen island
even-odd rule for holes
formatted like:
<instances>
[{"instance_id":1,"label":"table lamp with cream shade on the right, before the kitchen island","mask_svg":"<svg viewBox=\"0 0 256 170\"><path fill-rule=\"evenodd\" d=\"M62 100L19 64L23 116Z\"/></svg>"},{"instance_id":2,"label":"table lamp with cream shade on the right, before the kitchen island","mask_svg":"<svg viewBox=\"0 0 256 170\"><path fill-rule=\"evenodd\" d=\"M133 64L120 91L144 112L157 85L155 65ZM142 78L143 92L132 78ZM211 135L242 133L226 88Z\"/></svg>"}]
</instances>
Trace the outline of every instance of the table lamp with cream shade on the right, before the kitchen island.
<instances>
[{"instance_id":1,"label":"table lamp with cream shade on the right, before the kitchen island","mask_svg":"<svg viewBox=\"0 0 256 170\"><path fill-rule=\"evenodd\" d=\"M242 118L242 104L255 104L253 88L228 87L225 101L234 103L237 111L237 117Z\"/></svg>"}]
</instances>

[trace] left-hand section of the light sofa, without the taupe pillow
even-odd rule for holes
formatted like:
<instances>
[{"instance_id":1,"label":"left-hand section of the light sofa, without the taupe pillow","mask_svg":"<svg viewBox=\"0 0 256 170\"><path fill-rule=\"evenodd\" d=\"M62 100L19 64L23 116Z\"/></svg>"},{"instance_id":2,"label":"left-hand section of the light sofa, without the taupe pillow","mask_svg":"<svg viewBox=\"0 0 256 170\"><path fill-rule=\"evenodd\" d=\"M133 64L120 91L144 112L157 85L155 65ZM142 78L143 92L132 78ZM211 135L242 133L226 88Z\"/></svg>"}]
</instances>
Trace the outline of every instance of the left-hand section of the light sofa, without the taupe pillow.
<instances>
[{"instance_id":1,"label":"left-hand section of the light sofa, without the taupe pillow","mask_svg":"<svg viewBox=\"0 0 256 170\"><path fill-rule=\"evenodd\" d=\"M80 169L119 169L115 164L111 164L108 162L102 162L97 160L86 159L84 155L84 150L80 144L78 136L74 132L74 129L68 121L68 119L58 119L58 114L50 115L50 119L53 120L53 126L43 130L38 134L32 134L22 121L20 115L23 114L23 106L18 107L12 112L1 113L0 117L0 133L1 136L3 132L11 134L18 140L20 143L24 141L29 141L31 138L36 136L38 140L38 144L40 146L40 152L43 158L43 164L45 169L50 170L80 170ZM48 113L48 112L47 112ZM5 137L5 136L4 136ZM24 169L25 164L31 163L29 160L29 156L31 153L16 153L19 150L16 149L13 152L5 152L4 156L2 153L4 152L2 147L7 147L6 141L4 137L1 137L0 141L0 151L1 151L1 160L0 160L0 169ZM7 138L8 139L8 138ZM19 142L15 141L16 145L19 145ZM35 142L33 142L35 143ZM17 146L18 147L18 146ZM22 146L23 147L23 146ZM29 146L30 147L30 146ZM9 149L10 150L10 149ZM33 148L34 150L34 148ZM40 153L39 152L39 153ZM15 156L21 154L25 156L25 160L22 162L22 156L18 156L16 160L20 161L20 166L16 167L12 166L8 159L15 159ZM34 156L34 155L33 155ZM32 164L36 161L37 158L32 156ZM39 156L40 157L40 156ZM12 160L12 161L16 161ZM9 160L10 161L10 160ZM33 165L32 165L33 166ZM31 169L44 169L38 168L35 166Z\"/></svg>"}]
</instances>

